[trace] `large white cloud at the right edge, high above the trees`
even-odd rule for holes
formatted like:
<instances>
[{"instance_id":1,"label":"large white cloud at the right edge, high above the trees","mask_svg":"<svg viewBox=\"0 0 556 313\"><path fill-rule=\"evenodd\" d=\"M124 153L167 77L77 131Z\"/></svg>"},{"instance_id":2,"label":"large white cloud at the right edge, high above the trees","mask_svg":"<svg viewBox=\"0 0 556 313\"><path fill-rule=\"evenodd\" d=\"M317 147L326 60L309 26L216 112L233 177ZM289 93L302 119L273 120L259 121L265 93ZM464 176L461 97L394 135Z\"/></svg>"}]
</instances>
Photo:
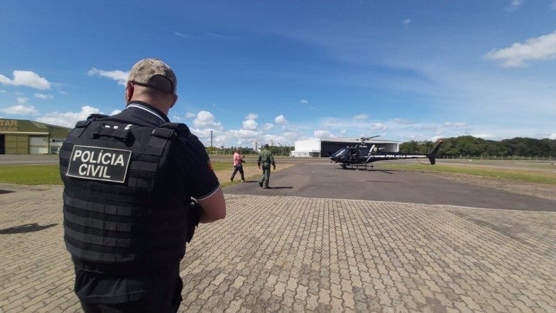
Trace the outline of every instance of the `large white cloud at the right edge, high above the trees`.
<instances>
[{"instance_id":1,"label":"large white cloud at the right edge, high above the trees","mask_svg":"<svg viewBox=\"0 0 556 313\"><path fill-rule=\"evenodd\" d=\"M514 42L505 49L493 49L485 58L500 60L506 67L523 66L524 61L552 60L556 58L556 31L548 35L529 38L525 43Z\"/></svg>"}]
</instances>

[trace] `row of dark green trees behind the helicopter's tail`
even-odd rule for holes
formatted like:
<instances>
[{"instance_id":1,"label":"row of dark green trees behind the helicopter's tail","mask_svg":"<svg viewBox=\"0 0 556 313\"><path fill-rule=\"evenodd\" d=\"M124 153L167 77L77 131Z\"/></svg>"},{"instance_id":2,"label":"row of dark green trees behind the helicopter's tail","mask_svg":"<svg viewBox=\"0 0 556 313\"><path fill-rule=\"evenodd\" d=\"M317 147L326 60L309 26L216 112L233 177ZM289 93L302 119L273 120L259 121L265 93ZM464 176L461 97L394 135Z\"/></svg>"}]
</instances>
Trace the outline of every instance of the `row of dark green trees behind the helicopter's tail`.
<instances>
[{"instance_id":1,"label":"row of dark green trees behind the helicopter's tail","mask_svg":"<svg viewBox=\"0 0 556 313\"><path fill-rule=\"evenodd\" d=\"M469 155L473 157L556 157L556 140L516 137L490 141L473 136L443 139L438 156ZM427 154L436 145L432 141L409 141L400 145L400 152Z\"/></svg>"}]
</instances>

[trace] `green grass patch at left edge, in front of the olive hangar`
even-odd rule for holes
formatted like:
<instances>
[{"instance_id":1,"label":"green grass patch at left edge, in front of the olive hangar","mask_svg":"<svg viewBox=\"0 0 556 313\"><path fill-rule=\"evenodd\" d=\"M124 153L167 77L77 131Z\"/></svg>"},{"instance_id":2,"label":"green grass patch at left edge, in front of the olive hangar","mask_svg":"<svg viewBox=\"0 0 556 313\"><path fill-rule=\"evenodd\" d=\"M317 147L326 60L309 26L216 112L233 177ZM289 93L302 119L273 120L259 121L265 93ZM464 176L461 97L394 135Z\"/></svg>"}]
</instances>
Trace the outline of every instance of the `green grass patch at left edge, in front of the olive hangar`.
<instances>
[{"instance_id":1,"label":"green grass patch at left edge, in front of the olive hangar","mask_svg":"<svg viewBox=\"0 0 556 313\"><path fill-rule=\"evenodd\" d=\"M0 182L22 185L61 185L58 164L2 165Z\"/></svg>"}]
</instances>

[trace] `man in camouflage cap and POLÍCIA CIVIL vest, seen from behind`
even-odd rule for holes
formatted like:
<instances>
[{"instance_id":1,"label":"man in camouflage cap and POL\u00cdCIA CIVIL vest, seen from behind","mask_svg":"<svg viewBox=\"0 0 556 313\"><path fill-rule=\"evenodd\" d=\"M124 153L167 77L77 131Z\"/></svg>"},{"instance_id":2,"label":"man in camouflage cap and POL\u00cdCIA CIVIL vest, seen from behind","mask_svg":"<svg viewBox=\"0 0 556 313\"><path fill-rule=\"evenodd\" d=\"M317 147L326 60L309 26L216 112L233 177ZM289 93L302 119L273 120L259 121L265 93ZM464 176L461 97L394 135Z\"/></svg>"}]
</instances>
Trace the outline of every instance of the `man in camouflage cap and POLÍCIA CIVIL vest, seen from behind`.
<instances>
[{"instance_id":1,"label":"man in camouflage cap and POL\u00cdCIA CIVIL vest, seen from behind","mask_svg":"<svg viewBox=\"0 0 556 313\"><path fill-rule=\"evenodd\" d=\"M168 65L139 61L126 109L78 122L60 151L64 239L85 312L177 312L186 241L226 216L204 146L167 118L176 86Z\"/></svg>"}]
</instances>

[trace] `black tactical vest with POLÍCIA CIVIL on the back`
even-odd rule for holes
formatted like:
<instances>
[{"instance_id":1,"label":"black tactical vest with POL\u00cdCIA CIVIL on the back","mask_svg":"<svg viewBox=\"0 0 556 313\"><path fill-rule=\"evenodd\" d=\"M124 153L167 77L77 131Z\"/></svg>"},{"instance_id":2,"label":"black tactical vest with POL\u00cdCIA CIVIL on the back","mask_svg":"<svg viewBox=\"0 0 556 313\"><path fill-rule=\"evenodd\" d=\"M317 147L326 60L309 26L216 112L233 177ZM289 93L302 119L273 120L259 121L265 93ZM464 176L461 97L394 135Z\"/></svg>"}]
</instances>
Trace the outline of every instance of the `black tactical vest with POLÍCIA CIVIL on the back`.
<instances>
[{"instance_id":1,"label":"black tactical vest with POL\u00cdCIA CIVIL on the back","mask_svg":"<svg viewBox=\"0 0 556 313\"><path fill-rule=\"evenodd\" d=\"M190 194L170 155L188 134L183 124L155 128L104 115L77 123L60 149L64 239L76 262L107 272L179 262Z\"/></svg>"}]
</instances>

